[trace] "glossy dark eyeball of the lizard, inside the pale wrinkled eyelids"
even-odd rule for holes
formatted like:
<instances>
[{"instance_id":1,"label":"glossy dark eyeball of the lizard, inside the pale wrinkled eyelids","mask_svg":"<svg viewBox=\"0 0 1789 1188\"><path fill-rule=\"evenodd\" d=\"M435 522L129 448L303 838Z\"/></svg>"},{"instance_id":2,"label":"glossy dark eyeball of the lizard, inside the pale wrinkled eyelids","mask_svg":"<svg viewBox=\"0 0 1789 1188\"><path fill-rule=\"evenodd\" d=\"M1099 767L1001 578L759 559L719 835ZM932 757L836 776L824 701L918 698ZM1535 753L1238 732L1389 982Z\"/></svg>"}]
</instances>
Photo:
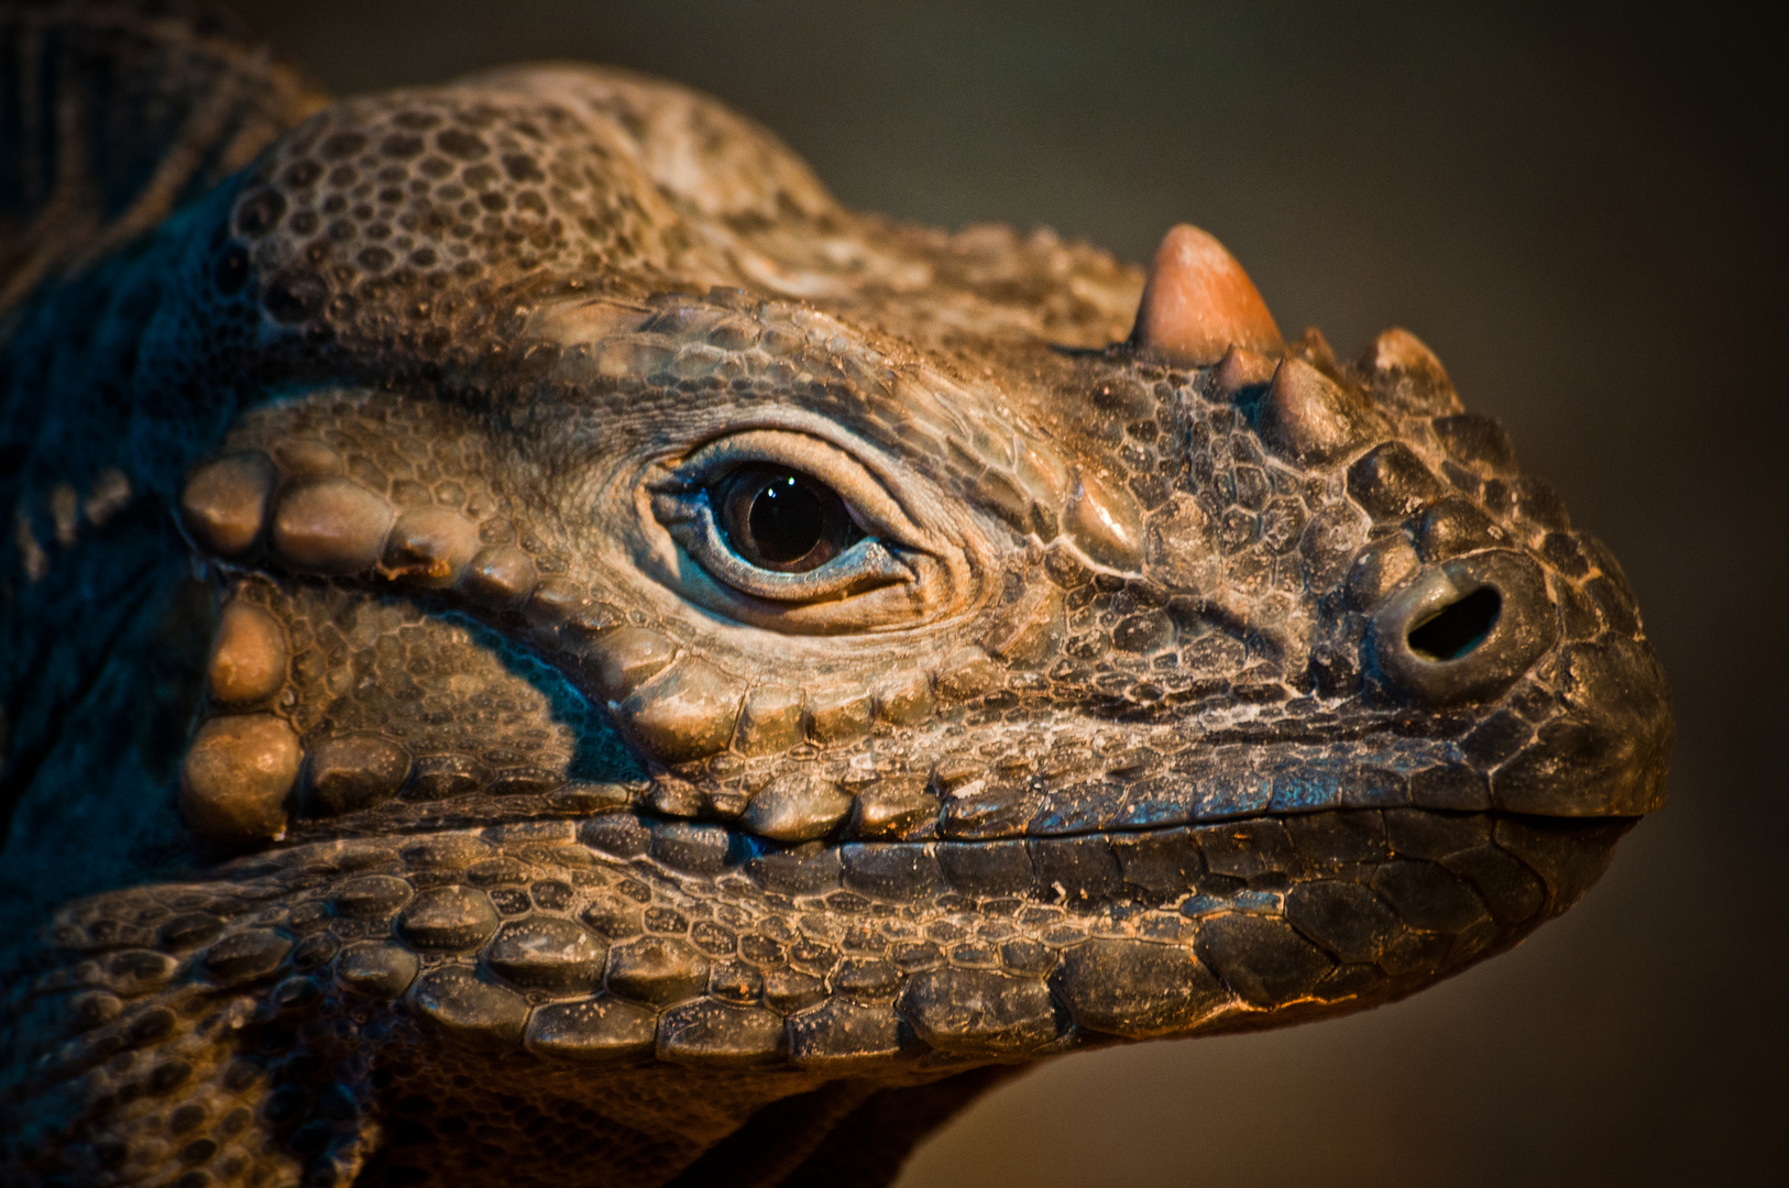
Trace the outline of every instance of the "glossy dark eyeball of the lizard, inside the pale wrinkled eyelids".
<instances>
[{"instance_id":1,"label":"glossy dark eyeball of the lizard, inside the pale wrinkled eyelids","mask_svg":"<svg viewBox=\"0 0 1789 1188\"><path fill-rule=\"evenodd\" d=\"M787 467L742 467L710 501L733 553L771 573L819 569L864 539L839 492Z\"/></svg>"}]
</instances>

